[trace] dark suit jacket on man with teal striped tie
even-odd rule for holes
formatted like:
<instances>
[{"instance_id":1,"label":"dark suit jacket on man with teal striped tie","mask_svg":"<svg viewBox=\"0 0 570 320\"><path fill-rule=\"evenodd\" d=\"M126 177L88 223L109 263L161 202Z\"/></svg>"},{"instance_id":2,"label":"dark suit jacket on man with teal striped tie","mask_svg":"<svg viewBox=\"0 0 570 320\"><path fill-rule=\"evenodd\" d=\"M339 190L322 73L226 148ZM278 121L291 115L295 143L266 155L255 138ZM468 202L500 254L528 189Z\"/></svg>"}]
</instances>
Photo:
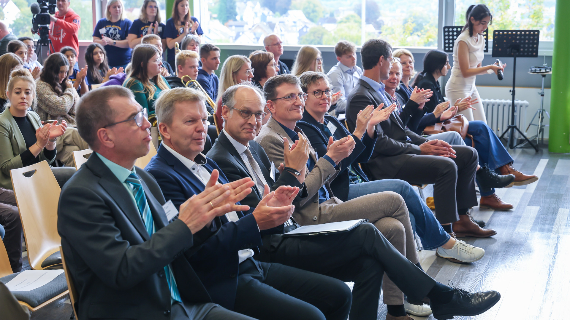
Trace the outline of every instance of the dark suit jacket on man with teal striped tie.
<instances>
[{"instance_id":1,"label":"dark suit jacket on man with teal striped tie","mask_svg":"<svg viewBox=\"0 0 570 320\"><path fill-rule=\"evenodd\" d=\"M184 302L211 302L188 258L212 232L192 235L181 220L169 224L156 180L138 167L136 173L157 229L152 237L127 189L95 153L60 194L58 232L80 319L169 319L168 264Z\"/></svg>"}]
</instances>

